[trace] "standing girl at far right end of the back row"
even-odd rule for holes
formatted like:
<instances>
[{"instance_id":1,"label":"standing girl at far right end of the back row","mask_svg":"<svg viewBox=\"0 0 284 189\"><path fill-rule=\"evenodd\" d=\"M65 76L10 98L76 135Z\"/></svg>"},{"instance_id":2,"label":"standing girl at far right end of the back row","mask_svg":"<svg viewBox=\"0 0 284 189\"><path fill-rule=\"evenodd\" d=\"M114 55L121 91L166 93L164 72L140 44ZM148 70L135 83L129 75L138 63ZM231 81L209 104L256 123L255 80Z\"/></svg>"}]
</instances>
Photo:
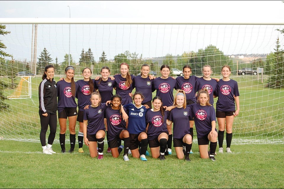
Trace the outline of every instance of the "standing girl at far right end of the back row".
<instances>
[{"instance_id":1,"label":"standing girl at far right end of the back row","mask_svg":"<svg viewBox=\"0 0 284 189\"><path fill-rule=\"evenodd\" d=\"M218 100L216 103L216 117L219 125L218 142L219 142L219 153L223 153L223 141L224 132L226 127L226 143L227 153L231 153L231 142L232 142L232 127L235 116L239 115L240 112L240 101L239 101L239 89L238 83L230 79L231 68L230 66L223 66L221 69L223 79L218 82L217 92ZM234 97L235 96L235 97ZM237 110L235 110L235 105Z\"/></svg>"}]
</instances>

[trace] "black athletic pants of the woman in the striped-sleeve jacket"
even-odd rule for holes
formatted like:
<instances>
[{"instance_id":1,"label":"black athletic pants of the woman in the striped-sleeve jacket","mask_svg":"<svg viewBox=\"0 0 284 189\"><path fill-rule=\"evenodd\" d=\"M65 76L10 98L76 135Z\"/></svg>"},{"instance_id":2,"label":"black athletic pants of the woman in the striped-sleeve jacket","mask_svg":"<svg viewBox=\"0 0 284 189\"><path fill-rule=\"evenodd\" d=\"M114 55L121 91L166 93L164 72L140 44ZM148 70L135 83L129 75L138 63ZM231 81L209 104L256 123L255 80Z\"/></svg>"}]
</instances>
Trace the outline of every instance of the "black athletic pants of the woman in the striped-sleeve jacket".
<instances>
[{"instance_id":1,"label":"black athletic pants of the woman in the striped-sleeve jacket","mask_svg":"<svg viewBox=\"0 0 284 189\"><path fill-rule=\"evenodd\" d=\"M48 125L50 128L50 133L48 136L48 144L53 144L56 128L57 128L57 114L47 113L47 117L42 115L42 111L39 111L39 117L41 119L41 133L39 138L41 139L41 146L46 146L46 132Z\"/></svg>"}]
</instances>

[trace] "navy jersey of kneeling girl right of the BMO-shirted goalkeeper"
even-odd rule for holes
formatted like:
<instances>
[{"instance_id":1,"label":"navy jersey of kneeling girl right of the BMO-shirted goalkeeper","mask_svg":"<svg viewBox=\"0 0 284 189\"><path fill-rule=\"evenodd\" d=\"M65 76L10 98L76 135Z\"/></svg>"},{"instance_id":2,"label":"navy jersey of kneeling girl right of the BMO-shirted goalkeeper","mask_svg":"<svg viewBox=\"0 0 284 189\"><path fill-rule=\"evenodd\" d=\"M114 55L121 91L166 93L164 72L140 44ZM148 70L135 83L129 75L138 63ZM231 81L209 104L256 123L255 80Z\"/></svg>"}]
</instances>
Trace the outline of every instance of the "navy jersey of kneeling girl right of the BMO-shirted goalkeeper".
<instances>
[{"instance_id":1,"label":"navy jersey of kneeling girl right of the BMO-shirted goalkeeper","mask_svg":"<svg viewBox=\"0 0 284 189\"><path fill-rule=\"evenodd\" d=\"M154 140L161 133L167 132L167 118L169 117L169 115L170 112L165 110L164 110L164 119L162 117L161 111L154 112L152 110L149 110L146 113L146 124L149 123L147 131L149 140Z\"/></svg>"}]
</instances>

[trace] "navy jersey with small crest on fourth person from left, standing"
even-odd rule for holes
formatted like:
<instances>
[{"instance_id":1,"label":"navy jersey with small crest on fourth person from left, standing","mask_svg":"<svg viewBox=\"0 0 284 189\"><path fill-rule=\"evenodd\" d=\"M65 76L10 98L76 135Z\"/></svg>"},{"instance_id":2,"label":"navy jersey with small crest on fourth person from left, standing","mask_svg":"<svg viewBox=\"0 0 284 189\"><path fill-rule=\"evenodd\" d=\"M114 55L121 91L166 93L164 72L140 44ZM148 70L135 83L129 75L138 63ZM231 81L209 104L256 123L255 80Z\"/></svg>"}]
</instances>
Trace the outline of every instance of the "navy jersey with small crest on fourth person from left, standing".
<instances>
[{"instance_id":1,"label":"navy jersey with small crest on fourth person from left, standing","mask_svg":"<svg viewBox=\"0 0 284 189\"><path fill-rule=\"evenodd\" d=\"M110 100L113 93L113 88L116 87L115 80L111 80L108 78L106 81L96 80L96 89L99 89L99 93L101 95L101 102L106 103L106 101Z\"/></svg>"}]
</instances>

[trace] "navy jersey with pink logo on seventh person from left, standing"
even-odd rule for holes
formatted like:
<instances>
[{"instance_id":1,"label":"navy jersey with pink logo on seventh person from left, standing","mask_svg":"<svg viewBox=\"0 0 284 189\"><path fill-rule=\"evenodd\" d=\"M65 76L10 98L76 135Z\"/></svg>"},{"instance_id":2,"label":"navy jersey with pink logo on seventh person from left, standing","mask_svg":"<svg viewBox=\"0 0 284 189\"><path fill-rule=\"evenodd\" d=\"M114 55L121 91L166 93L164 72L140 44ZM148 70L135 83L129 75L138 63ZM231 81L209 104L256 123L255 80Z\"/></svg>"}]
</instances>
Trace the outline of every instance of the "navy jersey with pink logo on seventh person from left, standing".
<instances>
[{"instance_id":1,"label":"navy jersey with pink logo on seventh person from left, standing","mask_svg":"<svg viewBox=\"0 0 284 189\"><path fill-rule=\"evenodd\" d=\"M164 106L172 106L174 102L173 91L175 89L176 80L168 77L162 79L158 77L154 79L154 87L157 90L156 96L159 96L163 100Z\"/></svg>"}]
</instances>

